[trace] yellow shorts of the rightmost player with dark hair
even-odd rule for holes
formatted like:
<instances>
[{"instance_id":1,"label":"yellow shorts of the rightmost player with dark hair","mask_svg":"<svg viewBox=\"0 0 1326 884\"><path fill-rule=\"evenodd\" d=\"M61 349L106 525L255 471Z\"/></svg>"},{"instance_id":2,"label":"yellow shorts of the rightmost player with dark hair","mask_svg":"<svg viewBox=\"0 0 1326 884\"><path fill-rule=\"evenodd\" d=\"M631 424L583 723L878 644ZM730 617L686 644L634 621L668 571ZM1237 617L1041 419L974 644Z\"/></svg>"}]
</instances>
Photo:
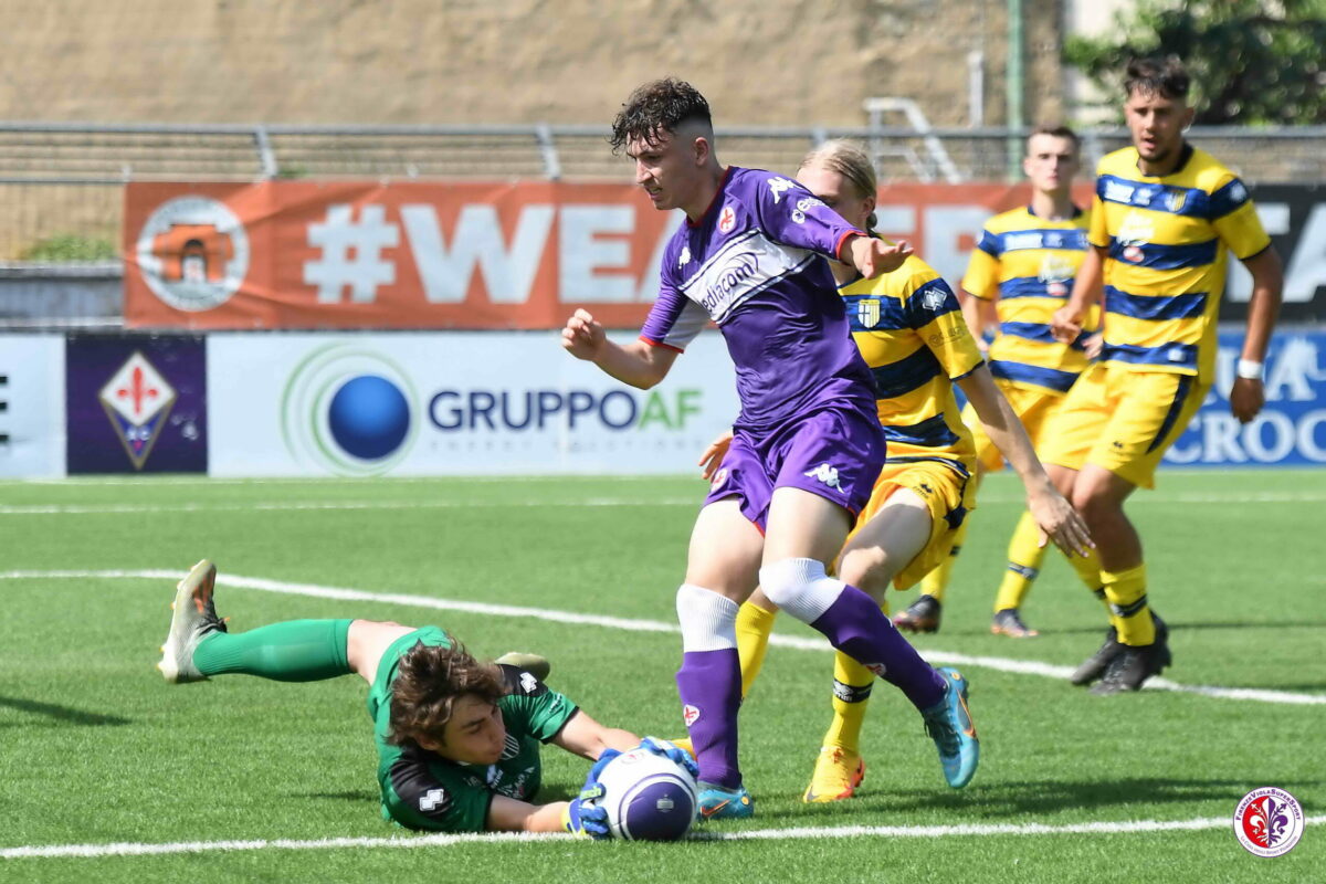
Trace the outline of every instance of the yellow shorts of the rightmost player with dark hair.
<instances>
[{"instance_id":1,"label":"yellow shorts of the rightmost player with dark hair","mask_svg":"<svg viewBox=\"0 0 1326 884\"><path fill-rule=\"evenodd\" d=\"M1140 488L1155 472L1211 384L1192 375L1097 363L1073 384L1054 415L1041 460L1069 469L1095 464Z\"/></svg>"}]
</instances>

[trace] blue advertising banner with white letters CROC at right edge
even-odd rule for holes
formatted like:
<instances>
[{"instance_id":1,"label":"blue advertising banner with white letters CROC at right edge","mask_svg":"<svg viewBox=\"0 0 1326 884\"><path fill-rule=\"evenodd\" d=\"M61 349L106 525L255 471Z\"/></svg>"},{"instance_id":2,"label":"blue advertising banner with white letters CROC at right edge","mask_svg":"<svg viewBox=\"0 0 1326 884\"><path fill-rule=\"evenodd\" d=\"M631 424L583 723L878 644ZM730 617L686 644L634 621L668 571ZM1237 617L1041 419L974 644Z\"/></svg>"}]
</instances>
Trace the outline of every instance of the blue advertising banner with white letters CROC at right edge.
<instances>
[{"instance_id":1,"label":"blue advertising banner with white letters CROC at right edge","mask_svg":"<svg viewBox=\"0 0 1326 884\"><path fill-rule=\"evenodd\" d=\"M1266 355L1266 407L1244 425L1229 414L1241 333L1220 334L1216 383L1187 432L1166 452L1183 467L1326 464L1326 334L1278 331Z\"/></svg>"}]
</instances>

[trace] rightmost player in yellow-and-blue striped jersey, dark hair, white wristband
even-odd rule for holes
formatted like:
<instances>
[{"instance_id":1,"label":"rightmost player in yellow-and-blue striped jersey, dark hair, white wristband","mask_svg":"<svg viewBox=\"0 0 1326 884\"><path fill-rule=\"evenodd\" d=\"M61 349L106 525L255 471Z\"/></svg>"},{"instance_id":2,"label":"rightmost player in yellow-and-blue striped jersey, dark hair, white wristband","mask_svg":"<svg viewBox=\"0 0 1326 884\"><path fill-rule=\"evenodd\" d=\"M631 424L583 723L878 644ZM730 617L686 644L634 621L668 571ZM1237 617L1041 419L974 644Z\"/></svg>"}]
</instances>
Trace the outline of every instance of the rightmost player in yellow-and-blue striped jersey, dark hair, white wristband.
<instances>
[{"instance_id":1,"label":"rightmost player in yellow-and-blue striped jersey, dark hair, white wristband","mask_svg":"<svg viewBox=\"0 0 1326 884\"><path fill-rule=\"evenodd\" d=\"M1142 541L1123 512L1154 485L1162 455L1211 387L1227 254L1253 277L1248 335L1229 404L1246 423L1265 402L1262 359L1280 307L1280 257L1238 178L1184 140L1188 74L1175 60L1134 61L1124 81L1132 146L1101 160L1089 240L1059 341L1082 331L1103 286L1101 362L1074 384L1044 452L1055 484L1086 516L1099 545L1105 644L1073 675L1094 693L1136 691L1170 664L1167 630L1147 603Z\"/></svg>"}]
</instances>

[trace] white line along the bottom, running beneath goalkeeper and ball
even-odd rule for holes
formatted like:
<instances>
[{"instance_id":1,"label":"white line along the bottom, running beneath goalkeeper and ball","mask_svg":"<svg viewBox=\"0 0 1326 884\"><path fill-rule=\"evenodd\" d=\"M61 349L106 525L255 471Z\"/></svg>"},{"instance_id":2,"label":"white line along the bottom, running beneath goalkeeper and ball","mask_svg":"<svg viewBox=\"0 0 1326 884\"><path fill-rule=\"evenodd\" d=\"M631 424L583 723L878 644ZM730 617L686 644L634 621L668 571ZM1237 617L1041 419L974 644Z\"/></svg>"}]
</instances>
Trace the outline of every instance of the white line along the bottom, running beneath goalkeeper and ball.
<instances>
[{"instance_id":1,"label":"white line along the bottom, running beneath goalkeeper and ball","mask_svg":"<svg viewBox=\"0 0 1326 884\"><path fill-rule=\"evenodd\" d=\"M1305 816L1303 826L1326 823L1326 816ZM1132 835L1138 832L1195 832L1232 827L1228 816L1207 816L1175 820L1123 820L1118 823L989 823L969 826L834 826L817 828L756 828L741 832L695 832L690 840L749 842L749 840L825 840L843 838L989 838L1000 835ZM227 842L168 842L146 844L118 842L111 844L46 844L0 848L0 859L91 859L98 856L160 856L163 854L204 854L223 851L260 850L346 850L346 848L427 848L459 844L509 844L511 842L568 843L565 835L528 835L524 832L492 832L475 835L419 835L415 838L322 838L316 840L259 839Z\"/></svg>"}]
</instances>

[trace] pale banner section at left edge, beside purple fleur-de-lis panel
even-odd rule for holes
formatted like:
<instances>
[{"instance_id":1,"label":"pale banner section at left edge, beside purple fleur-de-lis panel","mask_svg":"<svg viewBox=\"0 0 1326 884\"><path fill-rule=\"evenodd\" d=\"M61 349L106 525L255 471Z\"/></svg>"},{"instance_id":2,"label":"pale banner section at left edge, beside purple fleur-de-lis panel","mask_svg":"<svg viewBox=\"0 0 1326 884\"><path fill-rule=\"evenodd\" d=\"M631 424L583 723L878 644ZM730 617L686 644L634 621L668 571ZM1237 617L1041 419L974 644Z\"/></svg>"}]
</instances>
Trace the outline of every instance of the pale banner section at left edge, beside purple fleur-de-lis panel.
<instances>
[{"instance_id":1,"label":"pale banner section at left edge, beside purple fleur-de-lis panel","mask_svg":"<svg viewBox=\"0 0 1326 884\"><path fill-rule=\"evenodd\" d=\"M0 477L65 474L65 337L0 335Z\"/></svg>"}]
</instances>

